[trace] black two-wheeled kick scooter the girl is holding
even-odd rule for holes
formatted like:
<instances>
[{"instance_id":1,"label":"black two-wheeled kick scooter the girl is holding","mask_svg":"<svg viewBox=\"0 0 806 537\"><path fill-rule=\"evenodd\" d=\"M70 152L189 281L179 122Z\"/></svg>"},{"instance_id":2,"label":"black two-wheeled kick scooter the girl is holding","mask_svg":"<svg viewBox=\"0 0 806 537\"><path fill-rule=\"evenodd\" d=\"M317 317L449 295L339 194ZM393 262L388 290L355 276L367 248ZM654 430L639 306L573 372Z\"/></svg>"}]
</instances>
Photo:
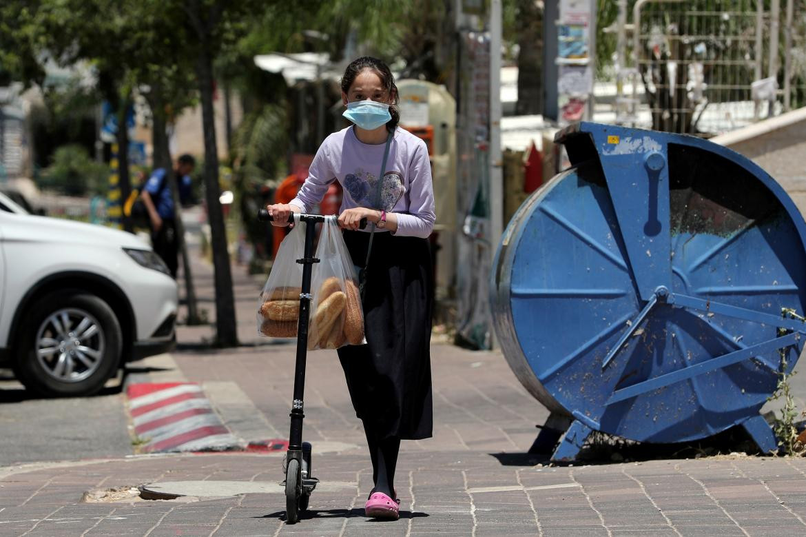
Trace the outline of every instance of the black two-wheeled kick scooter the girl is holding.
<instances>
[{"instance_id":1,"label":"black two-wheeled kick scooter the girl is holding","mask_svg":"<svg viewBox=\"0 0 806 537\"><path fill-rule=\"evenodd\" d=\"M308 509L310 494L314 492L319 480L312 477L311 472L311 445L302 441L302 398L305 394L305 361L308 351L308 323L310 319L310 293L311 272L314 263L314 239L316 237L316 224L325 221L322 214L291 214L289 223L293 223L297 216L300 222L305 222L305 252L297 263L302 265L302 290L300 293L300 317L297 324L297 364L294 368L294 396L291 406L291 431L289 433L289 450L285 460L285 522L295 524L302 511ZM261 209L257 219L261 222L271 222L272 216L268 210ZM364 229L366 219L361 219L359 227Z\"/></svg>"}]
</instances>

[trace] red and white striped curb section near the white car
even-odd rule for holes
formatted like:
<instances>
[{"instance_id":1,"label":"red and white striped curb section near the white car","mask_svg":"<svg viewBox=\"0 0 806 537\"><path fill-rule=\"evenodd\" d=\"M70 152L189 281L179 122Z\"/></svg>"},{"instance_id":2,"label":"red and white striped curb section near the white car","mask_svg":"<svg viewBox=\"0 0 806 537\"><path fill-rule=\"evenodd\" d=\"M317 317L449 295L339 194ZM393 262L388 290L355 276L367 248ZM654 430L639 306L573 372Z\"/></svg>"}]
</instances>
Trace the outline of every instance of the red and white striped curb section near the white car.
<instances>
[{"instance_id":1,"label":"red and white striped curb section near the white car","mask_svg":"<svg viewBox=\"0 0 806 537\"><path fill-rule=\"evenodd\" d=\"M127 387L129 414L143 451L202 452L243 449L213 410L202 387L188 382Z\"/></svg>"}]
</instances>

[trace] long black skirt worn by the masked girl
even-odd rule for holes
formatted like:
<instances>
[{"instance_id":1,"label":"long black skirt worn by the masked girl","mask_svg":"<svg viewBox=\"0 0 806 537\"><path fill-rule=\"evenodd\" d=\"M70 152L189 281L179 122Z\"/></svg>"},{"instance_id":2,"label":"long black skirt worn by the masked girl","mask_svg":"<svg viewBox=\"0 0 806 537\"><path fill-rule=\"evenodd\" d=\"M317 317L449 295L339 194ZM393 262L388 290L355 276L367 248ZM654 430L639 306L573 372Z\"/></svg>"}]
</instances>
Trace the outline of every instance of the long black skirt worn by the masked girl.
<instances>
[{"instance_id":1,"label":"long black skirt worn by the masked girl","mask_svg":"<svg viewBox=\"0 0 806 537\"><path fill-rule=\"evenodd\" d=\"M345 231L356 267L367 260L369 233ZM424 439L433 429L428 239L376 231L364 292L366 345L339 348L355 414L380 439Z\"/></svg>"}]
</instances>

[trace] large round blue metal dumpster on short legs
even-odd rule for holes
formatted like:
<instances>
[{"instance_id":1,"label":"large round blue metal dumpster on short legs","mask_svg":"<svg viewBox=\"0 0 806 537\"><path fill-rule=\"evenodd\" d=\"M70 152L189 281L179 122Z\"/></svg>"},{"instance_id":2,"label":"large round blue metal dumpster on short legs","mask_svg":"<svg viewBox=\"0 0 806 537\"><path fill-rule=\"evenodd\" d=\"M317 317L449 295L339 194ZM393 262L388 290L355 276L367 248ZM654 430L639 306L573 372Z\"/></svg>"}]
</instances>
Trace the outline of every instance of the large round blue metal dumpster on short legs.
<instances>
[{"instance_id":1,"label":"large round blue metal dumpster on short legs","mask_svg":"<svg viewBox=\"0 0 806 537\"><path fill-rule=\"evenodd\" d=\"M509 223L493 263L496 335L521 383L591 431L685 442L741 425L804 346L806 224L750 160L704 139L580 123L571 169Z\"/></svg>"}]
</instances>

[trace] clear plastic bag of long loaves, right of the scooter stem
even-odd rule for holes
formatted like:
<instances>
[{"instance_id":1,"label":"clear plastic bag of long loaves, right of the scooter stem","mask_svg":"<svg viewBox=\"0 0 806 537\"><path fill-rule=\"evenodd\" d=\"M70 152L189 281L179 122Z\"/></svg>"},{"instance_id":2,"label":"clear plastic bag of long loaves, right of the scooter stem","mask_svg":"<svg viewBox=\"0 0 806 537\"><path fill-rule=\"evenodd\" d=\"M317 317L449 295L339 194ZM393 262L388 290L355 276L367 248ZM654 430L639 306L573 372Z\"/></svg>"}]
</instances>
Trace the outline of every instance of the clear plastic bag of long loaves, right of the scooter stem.
<instances>
[{"instance_id":1,"label":"clear plastic bag of long loaves, right of the scooter stem","mask_svg":"<svg viewBox=\"0 0 806 537\"><path fill-rule=\"evenodd\" d=\"M322 225L316 257L308 349L366 343L358 278L335 216Z\"/></svg>"}]
</instances>

